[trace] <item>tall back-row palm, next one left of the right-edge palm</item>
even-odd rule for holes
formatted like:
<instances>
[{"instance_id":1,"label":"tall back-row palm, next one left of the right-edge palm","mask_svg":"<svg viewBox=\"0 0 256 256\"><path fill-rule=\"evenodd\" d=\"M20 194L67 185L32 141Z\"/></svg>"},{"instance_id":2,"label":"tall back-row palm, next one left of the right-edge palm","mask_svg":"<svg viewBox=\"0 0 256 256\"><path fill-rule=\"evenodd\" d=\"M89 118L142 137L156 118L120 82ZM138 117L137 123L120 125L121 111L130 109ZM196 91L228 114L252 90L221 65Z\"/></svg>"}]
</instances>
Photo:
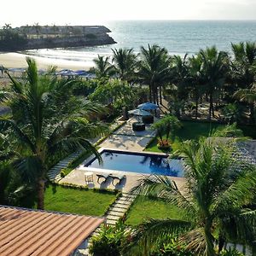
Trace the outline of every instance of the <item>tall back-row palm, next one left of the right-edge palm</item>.
<instances>
[{"instance_id":1,"label":"tall back-row palm, next one left of the right-edge palm","mask_svg":"<svg viewBox=\"0 0 256 256\"><path fill-rule=\"evenodd\" d=\"M213 96L219 93L224 85L225 76L228 71L229 58L226 52L216 49L216 47L201 49L199 57L202 60L202 75L206 84L206 92L209 96L209 116L214 117Z\"/></svg>"}]
</instances>

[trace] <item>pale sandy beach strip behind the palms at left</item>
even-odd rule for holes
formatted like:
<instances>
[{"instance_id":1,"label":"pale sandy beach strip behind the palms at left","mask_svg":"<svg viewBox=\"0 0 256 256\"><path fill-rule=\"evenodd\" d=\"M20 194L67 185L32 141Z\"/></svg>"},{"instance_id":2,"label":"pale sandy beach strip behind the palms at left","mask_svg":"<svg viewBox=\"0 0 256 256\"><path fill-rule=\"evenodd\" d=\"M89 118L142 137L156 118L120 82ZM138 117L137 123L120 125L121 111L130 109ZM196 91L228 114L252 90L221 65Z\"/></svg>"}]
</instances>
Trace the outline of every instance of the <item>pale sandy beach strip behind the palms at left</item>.
<instances>
[{"instance_id":1,"label":"pale sandy beach strip behind the palms at left","mask_svg":"<svg viewBox=\"0 0 256 256\"><path fill-rule=\"evenodd\" d=\"M72 69L72 70L89 70L91 66L85 61L67 61L47 57L39 57L35 55L24 55L20 53L2 53L0 54L0 66L3 67L26 67L26 57L32 57L38 63L39 69L47 69L49 66L56 66L58 70Z\"/></svg>"}]
</instances>

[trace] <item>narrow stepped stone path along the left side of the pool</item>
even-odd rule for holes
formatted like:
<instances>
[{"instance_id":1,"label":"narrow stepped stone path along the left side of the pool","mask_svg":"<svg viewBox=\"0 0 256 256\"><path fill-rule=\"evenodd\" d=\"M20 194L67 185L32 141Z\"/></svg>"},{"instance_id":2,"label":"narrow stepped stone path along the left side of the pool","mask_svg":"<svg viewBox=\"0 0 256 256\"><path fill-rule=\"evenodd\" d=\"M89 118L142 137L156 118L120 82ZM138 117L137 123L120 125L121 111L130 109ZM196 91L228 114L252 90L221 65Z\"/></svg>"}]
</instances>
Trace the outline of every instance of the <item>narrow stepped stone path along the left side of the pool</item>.
<instances>
[{"instance_id":1,"label":"narrow stepped stone path along the left side of the pool","mask_svg":"<svg viewBox=\"0 0 256 256\"><path fill-rule=\"evenodd\" d=\"M73 154L69 154L65 159L59 161L55 166L53 166L48 172L49 180L52 182L59 182L62 178L60 174L61 169L67 168L68 164L77 158L82 152L82 150L79 150Z\"/></svg>"}]
</instances>

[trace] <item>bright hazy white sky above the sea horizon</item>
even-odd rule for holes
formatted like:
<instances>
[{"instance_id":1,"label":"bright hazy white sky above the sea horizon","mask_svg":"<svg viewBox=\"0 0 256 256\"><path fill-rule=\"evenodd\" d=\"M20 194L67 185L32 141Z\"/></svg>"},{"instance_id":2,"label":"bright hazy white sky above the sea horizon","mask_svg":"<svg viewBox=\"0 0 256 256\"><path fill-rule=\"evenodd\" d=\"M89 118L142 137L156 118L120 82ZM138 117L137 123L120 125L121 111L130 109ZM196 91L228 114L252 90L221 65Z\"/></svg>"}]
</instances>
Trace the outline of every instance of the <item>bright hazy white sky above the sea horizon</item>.
<instances>
[{"instance_id":1,"label":"bright hazy white sky above the sea horizon","mask_svg":"<svg viewBox=\"0 0 256 256\"><path fill-rule=\"evenodd\" d=\"M102 25L108 20L256 20L256 0L8 0L0 26Z\"/></svg>"}]
</instances>

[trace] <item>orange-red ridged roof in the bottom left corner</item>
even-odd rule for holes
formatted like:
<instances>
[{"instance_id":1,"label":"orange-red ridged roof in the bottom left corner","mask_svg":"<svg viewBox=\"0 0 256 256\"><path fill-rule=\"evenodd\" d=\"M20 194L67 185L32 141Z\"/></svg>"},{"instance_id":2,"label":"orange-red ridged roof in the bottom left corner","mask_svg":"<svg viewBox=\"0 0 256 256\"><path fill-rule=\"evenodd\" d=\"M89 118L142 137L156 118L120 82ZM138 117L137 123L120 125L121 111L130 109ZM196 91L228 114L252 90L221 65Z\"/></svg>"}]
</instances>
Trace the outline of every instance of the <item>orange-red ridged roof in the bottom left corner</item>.
<instances>
[{"instance_id":1,"label":"orange-red ridged roof in the bottom left corner","mask_svg":"<svg viewBox=\"0 0 256 256\"><path fill-rule=\"evenodd\" d=\"M0 255L70 255L104 218L0 206Z\"/></svg>"}]
</instances>

